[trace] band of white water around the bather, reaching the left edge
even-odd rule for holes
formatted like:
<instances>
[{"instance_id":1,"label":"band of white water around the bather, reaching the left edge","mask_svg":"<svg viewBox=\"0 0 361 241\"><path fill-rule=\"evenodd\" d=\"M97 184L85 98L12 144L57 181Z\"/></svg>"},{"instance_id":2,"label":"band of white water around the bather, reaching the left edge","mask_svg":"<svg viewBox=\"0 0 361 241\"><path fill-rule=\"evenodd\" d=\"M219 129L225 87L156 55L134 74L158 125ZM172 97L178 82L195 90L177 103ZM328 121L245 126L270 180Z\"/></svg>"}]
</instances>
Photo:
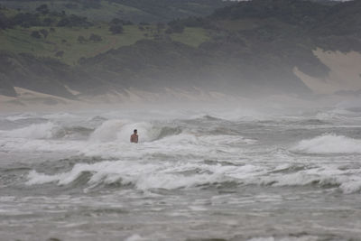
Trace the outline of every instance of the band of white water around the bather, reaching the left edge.
<instances>
[{"instance_id":1,"label":"band of white water around the bather, reaching the left edge","mask_svg":"<svg viewBox=\"0 0 361 241\"><path fill-rule=\"evenodd\" d=\"M140 134L140 144L130 144L134 128ZM75 130L76 131L76 130ZM241 135L199 134L180 131L180 127L135 123L129 120L108 120L90 134L88 140L68 138L69 128L52 122L28 125L21 129L1 131L0 148L6 152L78 152L103 158L140 159L150 155L199 156L217 158L226 153L242 153L239 147L255 140ZM65 134L65 135L64 135Z\"/></svg>"}]
</instances>

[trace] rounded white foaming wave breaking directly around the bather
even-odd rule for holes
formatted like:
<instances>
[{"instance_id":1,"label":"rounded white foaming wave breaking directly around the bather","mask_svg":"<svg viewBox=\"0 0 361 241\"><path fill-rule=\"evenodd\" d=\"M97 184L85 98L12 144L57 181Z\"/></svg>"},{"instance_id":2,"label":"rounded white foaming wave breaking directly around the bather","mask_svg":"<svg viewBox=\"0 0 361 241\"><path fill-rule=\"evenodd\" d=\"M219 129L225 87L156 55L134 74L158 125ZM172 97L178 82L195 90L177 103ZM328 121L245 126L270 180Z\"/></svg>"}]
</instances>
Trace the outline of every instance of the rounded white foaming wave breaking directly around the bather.
<instances>
[{"instance_id":1,"label":"rounded white foaming wave breaking directly around the bather","mask_svg":"<svg viewBox=\"0 0 361 241\"><path fill-rule=\"evenodd\" d=\"M135 128L140 136L140 144L137 145L129 142L130 134ZM239 146L254 143L255 140L246 139L240 135L198 134L190 130L180 131L180 127L177 126L112 119L97 127L90 135L88 144L85 144L79 153L123 160L129 157L142 158L142 156L158 153L162 155L199 155L207 158L209 154L216 154L219 150L222 150L223 153L236 153Z\"/></svg>"}]
</instances>

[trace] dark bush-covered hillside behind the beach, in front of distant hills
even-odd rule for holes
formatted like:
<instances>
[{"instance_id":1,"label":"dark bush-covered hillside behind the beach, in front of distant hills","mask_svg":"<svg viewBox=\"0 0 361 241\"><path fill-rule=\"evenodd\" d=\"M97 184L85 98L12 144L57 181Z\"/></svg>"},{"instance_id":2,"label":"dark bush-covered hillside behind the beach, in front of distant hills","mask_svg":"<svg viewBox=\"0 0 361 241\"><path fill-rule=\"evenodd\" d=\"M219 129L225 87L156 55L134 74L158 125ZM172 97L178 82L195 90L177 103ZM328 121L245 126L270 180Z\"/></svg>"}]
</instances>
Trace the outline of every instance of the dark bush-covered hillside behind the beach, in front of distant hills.
<instances>
[{"instance_id":1,"label":"dark bush-covered hillside behind the beach, in front of distant hills","mask_svg":"<svg viewBox=\"0 0 361 241\"><path fill-rule=\"evenodd\" d=\"M152 7L145 0L106 4L154 14L163 1L149 1ZM169 5L176 12L196 3L176 2ZM93 4L89 13L105 3ZM0 65L6 66L0 69L0 89L9 96L15 95L14 86L69 98L76 96L66 87L88 95L132 87L310 93L292 70L327 76L328 67L312 51L361 51L359 1L253 0L168 23L99 22L53 12L49 5L30 13L8 7L0 12Z\"/></svg>"}]
</instances>

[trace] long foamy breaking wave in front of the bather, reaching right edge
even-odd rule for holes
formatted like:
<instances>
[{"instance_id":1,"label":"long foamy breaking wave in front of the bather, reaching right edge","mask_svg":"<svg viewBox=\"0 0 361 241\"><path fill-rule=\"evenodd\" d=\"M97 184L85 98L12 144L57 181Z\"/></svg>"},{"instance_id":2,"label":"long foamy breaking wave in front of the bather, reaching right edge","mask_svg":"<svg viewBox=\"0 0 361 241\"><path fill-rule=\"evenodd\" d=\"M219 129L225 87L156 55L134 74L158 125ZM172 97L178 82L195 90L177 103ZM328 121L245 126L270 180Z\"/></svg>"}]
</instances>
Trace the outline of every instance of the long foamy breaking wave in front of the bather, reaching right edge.
<instances>
[{"instance_id":1,"label":"long foamy breaking wave in front of the bather, reaching right edge","mask_svg":"<svg viewBox=\"0 0 361 241\"><path fill-rule=\"evenodd\" d=\"M294 168L291 164L266 168L261 165L207 164L205 162L124 162L78 163L70 171L47 175L30 171L27 185L56 183L86 184L85 190L99 185L132 185L138 190L221 188L229 186L315 186L320 189L355 193L361 190L361 171L328 168ZM84 180L87 181L84 182Z\"/></svg>"}]
</instances>

